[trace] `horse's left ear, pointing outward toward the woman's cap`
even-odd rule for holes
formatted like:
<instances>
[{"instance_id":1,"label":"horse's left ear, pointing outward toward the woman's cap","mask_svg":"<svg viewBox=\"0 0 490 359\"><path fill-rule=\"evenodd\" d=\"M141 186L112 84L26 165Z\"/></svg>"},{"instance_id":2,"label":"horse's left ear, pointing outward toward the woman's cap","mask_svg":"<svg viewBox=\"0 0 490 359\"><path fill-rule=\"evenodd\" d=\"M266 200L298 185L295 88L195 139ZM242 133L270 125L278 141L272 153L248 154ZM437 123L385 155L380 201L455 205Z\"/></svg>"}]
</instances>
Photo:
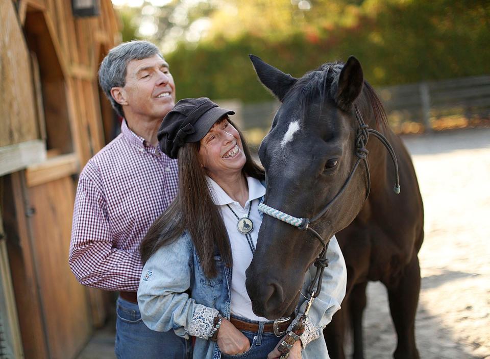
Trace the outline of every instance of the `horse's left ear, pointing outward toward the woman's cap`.
<instances>
[{"instance_id":1,"label":"horse's left ear, pointing outward toward the woman's cap","mask_svg":"<svg viewBox=\"0 0 490 359\"><path fill-rule=\"evenodd\" d=\"M293 78L289 74L284 74L281 70L265 63L255 55L249 56L260 82L282 102L287 91L289 91L298 79Z\"/></svg>"}]
</instances>

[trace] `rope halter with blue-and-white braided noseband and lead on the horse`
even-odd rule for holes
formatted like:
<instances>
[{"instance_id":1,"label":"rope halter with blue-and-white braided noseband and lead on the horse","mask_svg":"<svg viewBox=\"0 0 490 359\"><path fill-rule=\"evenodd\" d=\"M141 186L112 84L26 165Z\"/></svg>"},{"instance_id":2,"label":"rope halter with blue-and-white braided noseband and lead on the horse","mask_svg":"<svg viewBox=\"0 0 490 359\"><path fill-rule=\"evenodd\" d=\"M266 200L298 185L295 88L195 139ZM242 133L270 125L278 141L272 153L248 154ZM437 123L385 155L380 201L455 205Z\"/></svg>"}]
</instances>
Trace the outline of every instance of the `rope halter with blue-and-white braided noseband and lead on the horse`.
<instances>
[{"instance_id":1,"label":"rope halter with blue-and-white braided noseband and lead on the horse","mask_svg":"<svg viewBox=\"0 0 490 359\"><path fill-rule=\"evenodd\" d=\"M327 249L328 249L328 244L330 242L330 239L328 240L328 242L325 242L322 236L318 232L316 232L313 228L311 228L309 225L317 221L318 219L322 218L324 214L328 211L328 209L330 209L330 206L337 200L337 198L339 198L340 195L344 193L347 184L354 176L354 173L361 160L364 162L364 165L366 167L367 183L366 183L365 199L367 199L367 196L369 196L371 192L371 176L369 172L369 163L367 162L367 155L369 154L369 151L366 149L367 140L369 139L370 134L378 138L380 142L384 145L384 147L386 147L386 150L388 151L391 160L393 161L393 164L395 166L395 186L393 187L393 190L396 194L400 193L398 161L397 161L395 151L393 150L393 147L391 147L390 143L382 133L370 129L369 126L367 126L364 123L364 120L362 119L362 116L357 106L354 106L354 109L356 111L356 119L359 124L359 128L357 129L357 133L356 133L357 160L356 163L354 164L354 167L352 168L351 173L349 174L346 181L344 182L344 185L342 185L339 192L335 195L334 198L332 198L332 200L329 203L327 203L324 209L320 213L318 213L313 219L309 220L308 218L293 217L290 214L269 207L263 203L259 204L259 208L258 208L259 211L268 214L268 216L274 217L280 221L289 223L291 226L295 226L298 229L309 230L310 232L313 233L316 239L320 241L320 243L323 246L320 255L318 255L318 257L314 261L314 266L316 267L316 273L315 273L315 277L311 281L310 287L308 288L308 292L310 293L310 299L308 300L308 304L306 305L305 313L302 314L299 321L295 324L295 326L292 327L292 329L287 333L286 338L278 346L278 350L281 353L281 356L279 357L280 359L287 359L287 357L289 356L289 351L291 350L292 346L300 339L301 334L304 333L306 320L308 319L309 309L311 307L311 304L313 303L313 300L320 294L320 291L322 290L323 272L325 270L325 267L328 267ZM316 290L313 290L315 283L316 283Z\"/></svg>"}]
</instances>

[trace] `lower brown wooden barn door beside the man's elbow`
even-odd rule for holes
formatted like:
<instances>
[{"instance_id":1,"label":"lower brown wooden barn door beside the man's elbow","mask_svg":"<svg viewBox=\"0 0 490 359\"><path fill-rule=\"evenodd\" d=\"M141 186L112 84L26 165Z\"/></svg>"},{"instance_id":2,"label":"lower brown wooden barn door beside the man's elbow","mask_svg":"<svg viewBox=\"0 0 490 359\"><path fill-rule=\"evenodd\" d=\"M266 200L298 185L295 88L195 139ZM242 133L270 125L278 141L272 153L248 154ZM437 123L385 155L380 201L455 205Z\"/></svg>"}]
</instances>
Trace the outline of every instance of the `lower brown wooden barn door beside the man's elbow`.
<instances>
[{"instance_id":1,"label":"lower brown wooden barn door beside the man's elbow","mask_svg":"<svg viewBox=\"0 0 490 359\"><path fill-rule=\"evenodd\" d=\"M69 359L91 332L87 291L68 266L75 188L69 176L38 183L38 171L6 181L10 270L26 357Z\"/></svg>"}]
</instances>

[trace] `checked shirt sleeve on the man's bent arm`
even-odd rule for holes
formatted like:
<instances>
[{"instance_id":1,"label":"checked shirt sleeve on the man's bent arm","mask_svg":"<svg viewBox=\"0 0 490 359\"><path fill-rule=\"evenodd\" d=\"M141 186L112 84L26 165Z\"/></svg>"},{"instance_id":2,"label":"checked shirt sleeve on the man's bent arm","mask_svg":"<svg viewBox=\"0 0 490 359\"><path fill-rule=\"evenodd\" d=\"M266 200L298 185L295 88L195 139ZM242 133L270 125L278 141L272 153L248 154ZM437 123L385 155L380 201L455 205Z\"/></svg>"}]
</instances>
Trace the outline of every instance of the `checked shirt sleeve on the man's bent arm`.
<instances>
[{"instance_id":1,"label":"checked shirt sleeve on the man's bent arm","mask_svg":"<svg viewBox=\"0 0 490 359\"><path fill-rule=\"evenodd\" d=\"M96 176L83 172L75 198L68 261L83 285L108 291L138 289L142 269L139 252L113 248L103 187Z\"/></svg>"}]
</instances>

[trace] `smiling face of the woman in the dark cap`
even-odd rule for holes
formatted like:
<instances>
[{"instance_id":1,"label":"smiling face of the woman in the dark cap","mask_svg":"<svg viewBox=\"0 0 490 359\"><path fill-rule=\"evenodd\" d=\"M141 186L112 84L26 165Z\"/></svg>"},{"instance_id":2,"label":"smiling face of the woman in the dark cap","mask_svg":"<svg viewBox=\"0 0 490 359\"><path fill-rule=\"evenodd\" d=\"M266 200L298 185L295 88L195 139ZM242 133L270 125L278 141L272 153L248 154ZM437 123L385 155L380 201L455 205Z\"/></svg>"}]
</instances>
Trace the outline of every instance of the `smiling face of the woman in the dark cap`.
<instances>
[{"instance_id":1,"label":"smiling face of the woman in the dark cap","mask_svg":"<svg viewBox=\"0 0 490 359\"><path fill-rule=\"evenodd\" d=\"M209 177L219 179L241 172L247 159L238 131L226 118L217 121L200 144L199 157Z\"/></svg>"}]
</instances>

